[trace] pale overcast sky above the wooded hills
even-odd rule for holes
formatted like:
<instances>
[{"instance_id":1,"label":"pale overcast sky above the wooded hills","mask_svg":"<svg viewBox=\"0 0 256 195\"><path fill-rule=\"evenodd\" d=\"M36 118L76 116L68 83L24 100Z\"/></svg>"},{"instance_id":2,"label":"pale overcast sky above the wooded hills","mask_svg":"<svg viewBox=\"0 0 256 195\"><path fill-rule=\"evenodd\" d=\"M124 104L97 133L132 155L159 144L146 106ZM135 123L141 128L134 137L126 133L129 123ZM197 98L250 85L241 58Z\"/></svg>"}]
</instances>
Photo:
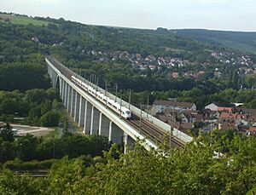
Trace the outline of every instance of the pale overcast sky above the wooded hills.
<instances>
[{"instance_id":1,"label":"pale overcast sky above the wooded hills","mask_svg":"<svg viewBox=\"0 0 256 195\"><path fill-rule=\"evenodd\" d=\"M0 10L103 26L256 32L256 0L0 0Z\"/></svg>"}]
</instances>

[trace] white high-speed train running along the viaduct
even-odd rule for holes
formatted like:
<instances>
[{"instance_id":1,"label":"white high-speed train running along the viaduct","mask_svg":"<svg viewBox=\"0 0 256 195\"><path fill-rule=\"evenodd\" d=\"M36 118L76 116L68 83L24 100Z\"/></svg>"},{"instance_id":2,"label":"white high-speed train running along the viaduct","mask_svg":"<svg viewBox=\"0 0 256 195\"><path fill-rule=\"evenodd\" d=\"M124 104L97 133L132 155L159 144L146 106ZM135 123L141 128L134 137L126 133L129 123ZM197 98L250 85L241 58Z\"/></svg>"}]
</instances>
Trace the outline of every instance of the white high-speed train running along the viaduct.
<instances>
[{"instance_id":1,"label":"white high-speed train running along the viaduct","mask_svg":"<svg viewBox=\"0 0 256 195\"><path fill-rule=\"evenodd\" d=\"M131 118L131 111L125 106L121 106L118 102L115 102L114 100L108 98L106 95L103 95L101 92L96 91L96 89L93 89L90 85L84 83L77 77L72 76L72 81L73 83L79 85L79 87L84 89L90 95L96 97L97 100L100 100L102 101L102 103L107 104L107 106L110 107L114 112L121 114L123 118Z\"/></svg>"}]
</instances>

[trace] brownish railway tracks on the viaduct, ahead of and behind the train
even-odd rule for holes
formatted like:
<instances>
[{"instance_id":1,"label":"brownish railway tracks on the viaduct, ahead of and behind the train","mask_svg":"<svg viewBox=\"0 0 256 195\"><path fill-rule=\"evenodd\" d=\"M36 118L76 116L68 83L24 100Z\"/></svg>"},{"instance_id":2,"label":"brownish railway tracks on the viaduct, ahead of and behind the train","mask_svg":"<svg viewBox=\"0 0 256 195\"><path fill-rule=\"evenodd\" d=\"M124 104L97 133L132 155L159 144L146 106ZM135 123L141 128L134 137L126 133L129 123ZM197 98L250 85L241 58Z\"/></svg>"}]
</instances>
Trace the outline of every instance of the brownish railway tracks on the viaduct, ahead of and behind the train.
<instances>
[{"instance_id":1,"label":"brownish railway tracks on the viaduct, ahead of and behind the train","mask_svg":"<svg viewBox=\"0 0 256 195\"><path fill-rule=\"evenodd\" d=\"M68 79L71 80L71 77L73 75L73 72L69 70L66 66L63 66L59 61L55 60L55 58L48 56L49 60L52 61L57 69L65 75ZM80 88L82 89L82 88ZM116 114L116 113L115 113ZM166 134L166 131L163 131L162 129L159 129L157 126L155 126L153 123L150 123L149 121L142 118L140 123L140 118L132 113L131 120L127 120L127 123L130 123L131 126L133 126L135 129L137 129L137 132L139 132L141 135L148 137L150 141L153 141L154 143L168 143L171 147L183 147L185 143L183 141L179 141L176 137L168 136ZM171 144L170 144L171 140Z\"/></svg>"}]
</instances>

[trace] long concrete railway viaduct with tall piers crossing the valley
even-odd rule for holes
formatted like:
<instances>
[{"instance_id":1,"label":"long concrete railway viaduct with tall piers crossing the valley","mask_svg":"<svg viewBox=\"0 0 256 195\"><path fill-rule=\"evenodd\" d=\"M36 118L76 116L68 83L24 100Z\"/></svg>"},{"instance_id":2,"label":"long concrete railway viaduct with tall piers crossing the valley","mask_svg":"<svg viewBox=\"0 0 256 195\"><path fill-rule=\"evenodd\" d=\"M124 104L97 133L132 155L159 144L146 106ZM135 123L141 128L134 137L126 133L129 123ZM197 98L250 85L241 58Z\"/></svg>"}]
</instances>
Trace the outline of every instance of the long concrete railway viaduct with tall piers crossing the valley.
<instances>
[{"instance_id":1,"label":"long concrete railway viaduct with tall piers crossing the valley","mask_svg":"<svg viewBox=\"0 0 256 195\"><path fill-rule=\"evenodd\" d=\"M145 140L143 145L147 150L152 147L157 148L158 144L163 141L171 147L183 147L187 142L192 141L189 135L172 129L169 124L106 92L108 98L116 100L121 106L130 107L131 120L119 118L118 113L113 112L101 101L96 100L94 96L73 83L72 76L78 77L102 94L105 94L104 89L80 77L50 55L45 56L45 61L53 87L60 89L61 100L67 112L71 114L79 127L84 129L85 135L104 135L109 141L124 143L125 146L130 146L137 139Z\"/></svg>"}]
</instances>

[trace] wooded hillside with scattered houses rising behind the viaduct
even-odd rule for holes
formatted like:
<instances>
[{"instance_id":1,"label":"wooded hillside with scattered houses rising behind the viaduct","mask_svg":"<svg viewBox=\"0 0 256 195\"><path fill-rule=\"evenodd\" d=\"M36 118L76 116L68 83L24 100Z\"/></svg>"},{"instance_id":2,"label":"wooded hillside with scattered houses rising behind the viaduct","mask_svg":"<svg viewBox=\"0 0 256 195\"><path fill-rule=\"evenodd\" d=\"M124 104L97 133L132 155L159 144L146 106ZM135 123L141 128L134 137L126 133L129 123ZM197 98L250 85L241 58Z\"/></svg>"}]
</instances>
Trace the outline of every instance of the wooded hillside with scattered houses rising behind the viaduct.
<instances>
[{"instance_id":1,"label":"wooded hillside with scattered houses rising behind the viaduct","mask_svg":"<svg viewBox=\"0 0 256 195\"><path fill-rule=\"evenodd\" d=\"M88 26L49 18L33 20L47 25L0 22L0 72L5 83L0 84L0 89L47 88L49 78L45 77L44 58L38 55L45 52L54 54L87 79L98 77L103 88L106 80L109 90L114 90L117 84L119 95L125 96L129 89L140 93L140 98L133 98L135 104L145 103L149 95L150 102L155 98L180 97L201 108L212 101L211 95L218 97L224 89L255 87L254 54L192 36L204 37L208 33L218 38L217 32L181 31L190 36L183 37L178 31L172 33L166 29ZM227 32L219 34L226 36L225 40L234 37ZM249 42L253 33L241 35L247 38L237 39ZM14 83L14 78L18 82ZM200 94L204 100L198 99ZM220 103L229 103L218 99ZM245 103L251 101L246 99Z\"/></svg>"}]
</instances>

